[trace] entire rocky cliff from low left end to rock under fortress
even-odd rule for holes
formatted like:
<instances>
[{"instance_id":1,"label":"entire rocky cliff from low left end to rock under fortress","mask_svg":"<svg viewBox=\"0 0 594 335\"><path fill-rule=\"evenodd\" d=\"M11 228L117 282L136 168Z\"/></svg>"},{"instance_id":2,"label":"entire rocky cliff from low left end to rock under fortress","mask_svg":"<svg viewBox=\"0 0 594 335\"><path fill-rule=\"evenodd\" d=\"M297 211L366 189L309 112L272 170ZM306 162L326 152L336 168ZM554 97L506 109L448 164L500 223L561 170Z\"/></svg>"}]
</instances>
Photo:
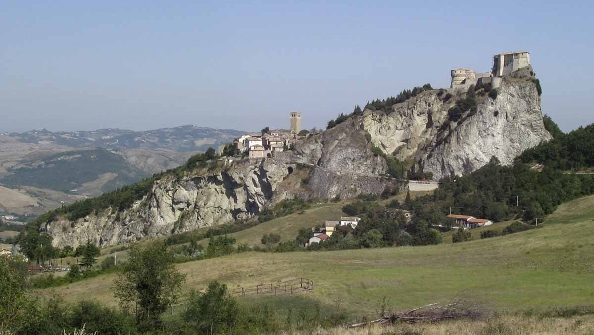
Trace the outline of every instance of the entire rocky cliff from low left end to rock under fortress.
<instances>
[{"instance_id":1,"label":"entire rocky cliff from low left end to rock under fortress","mask_svg":"<svg viewBox=\"0 0 594 335\"><path fill-rule=\"evenodd\" d=\"M251 219L287 198L346 198L402 186L384 176L386 161L372 153L372 146L439 179L472 172L491 156L509 164L523 150L551 138L532 81L507 78L496 97L487 91L474 93L475 107L456 119L448 110L470 93L424 91L387 112L352 115L273 159L220 162L211 170L166 174L130 208L108 208L74 222L58 217L43 229L59 247L87 240L116 245Z\"/></svg>"}]
</instances>

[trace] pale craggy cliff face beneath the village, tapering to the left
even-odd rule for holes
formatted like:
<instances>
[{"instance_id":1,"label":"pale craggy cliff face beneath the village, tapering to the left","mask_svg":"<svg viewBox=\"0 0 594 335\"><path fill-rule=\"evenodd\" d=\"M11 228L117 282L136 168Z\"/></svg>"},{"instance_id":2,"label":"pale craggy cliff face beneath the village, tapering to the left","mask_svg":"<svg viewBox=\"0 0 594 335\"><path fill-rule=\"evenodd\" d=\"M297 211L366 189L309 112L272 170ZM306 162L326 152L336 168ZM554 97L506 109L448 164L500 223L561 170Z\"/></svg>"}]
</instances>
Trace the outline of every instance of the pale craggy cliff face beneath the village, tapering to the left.
<instances>
[{"instance_id":1,"label":"pale craggy cliff face beneath the village, tapering to the left","mask_svg":"<svg viewBox=\"0 0 594 335\"><path fill-rule=\"evenodd\" d=\"M87 239L107 246L247 219L273 197L286 197L275 191L288 174L286 165L246 160L211 175L167 176L128 210L110 209L76 222L58 220L46 230L55 246L77 246Z\"/></svg>"}]
</instances>

